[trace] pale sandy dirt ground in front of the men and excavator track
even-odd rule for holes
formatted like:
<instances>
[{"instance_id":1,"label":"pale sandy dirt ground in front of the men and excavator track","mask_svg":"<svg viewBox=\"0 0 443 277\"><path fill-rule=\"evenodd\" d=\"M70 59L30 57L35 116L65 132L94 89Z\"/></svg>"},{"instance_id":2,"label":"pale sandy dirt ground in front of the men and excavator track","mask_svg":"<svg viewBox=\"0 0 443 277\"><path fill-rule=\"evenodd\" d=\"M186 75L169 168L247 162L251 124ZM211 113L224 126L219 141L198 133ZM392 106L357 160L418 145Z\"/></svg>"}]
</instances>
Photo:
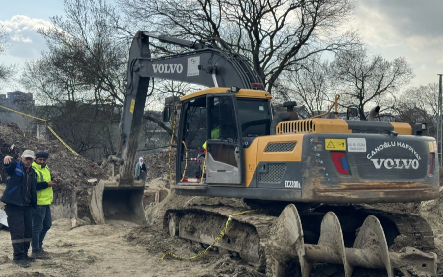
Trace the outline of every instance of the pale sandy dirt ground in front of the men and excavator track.
<instances>
[{"instance_id":1,"label":"pale sandy dirt ground in front of the men and excavator track","mask_svg":"<svg viewBox=\"0 0 443 277\"><path fill-rule=\"evenodd\" d=\"M168 190L166 184L166 178L153 180L147 184L147 195L152 189ZM253 266L213 250L196 261L166 258L159 262L166 251L191 257L203 250L200 244L164 233L162 212L169 198L157 205L147 199L150 224L142 227L121 222L72 228L69 219L58 219L44 241L52 259L37 260L25 269L11 262L9 232L0 230L0 276L254 276ZM179 198L174 197L174 203L189 201Z\"/></svg>"}]
</instances>

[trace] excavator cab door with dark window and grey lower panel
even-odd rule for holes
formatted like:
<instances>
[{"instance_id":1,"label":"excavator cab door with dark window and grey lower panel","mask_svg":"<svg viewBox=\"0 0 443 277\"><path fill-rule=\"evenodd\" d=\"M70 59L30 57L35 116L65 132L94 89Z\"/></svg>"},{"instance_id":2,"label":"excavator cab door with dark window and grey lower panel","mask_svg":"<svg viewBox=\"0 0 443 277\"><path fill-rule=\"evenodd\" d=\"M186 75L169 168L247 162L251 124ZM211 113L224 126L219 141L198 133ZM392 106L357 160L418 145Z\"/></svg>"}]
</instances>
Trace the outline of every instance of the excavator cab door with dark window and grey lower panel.
<instances>
[{"instance_id":1,"label":"excavator cab door with dark window and grey lower panel","mask_svg":"<svg viewBox=\"0 0 443 277\"><path fill-rule=\"evenodd\" d=\"M211 94L206 100L208 108L206 183L243 185L243 144L235 95Z\"/></svg>"}]
</instances>

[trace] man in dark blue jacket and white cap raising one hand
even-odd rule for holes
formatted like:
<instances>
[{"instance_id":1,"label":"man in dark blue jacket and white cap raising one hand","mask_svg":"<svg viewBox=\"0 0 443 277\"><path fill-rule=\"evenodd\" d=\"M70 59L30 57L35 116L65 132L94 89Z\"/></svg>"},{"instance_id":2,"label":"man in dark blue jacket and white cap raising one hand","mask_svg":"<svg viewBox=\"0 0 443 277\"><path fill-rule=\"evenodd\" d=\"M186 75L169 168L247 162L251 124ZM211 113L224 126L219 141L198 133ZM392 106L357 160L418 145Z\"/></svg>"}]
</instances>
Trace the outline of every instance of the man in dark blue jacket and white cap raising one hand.
<instances>
[{"instance_id":1,"label":"man in dark blue jacket and white cap raising one hand","mask_svg":"<svg viewBox=\"0 0 443 277\"><path fill-rule=\"evenodd\" d=\"M32 150L25 150L21 161L15 161L11 156L3 158L3 165L9 178L0 200L6 203L4 209L8 216L14 249L13 262L21 267L29 267L29 262L35 261L35 258L28 256L32 239L31 208L37 207L37 179L31 166L34 157Z\"/></svg>"}]
</instances>

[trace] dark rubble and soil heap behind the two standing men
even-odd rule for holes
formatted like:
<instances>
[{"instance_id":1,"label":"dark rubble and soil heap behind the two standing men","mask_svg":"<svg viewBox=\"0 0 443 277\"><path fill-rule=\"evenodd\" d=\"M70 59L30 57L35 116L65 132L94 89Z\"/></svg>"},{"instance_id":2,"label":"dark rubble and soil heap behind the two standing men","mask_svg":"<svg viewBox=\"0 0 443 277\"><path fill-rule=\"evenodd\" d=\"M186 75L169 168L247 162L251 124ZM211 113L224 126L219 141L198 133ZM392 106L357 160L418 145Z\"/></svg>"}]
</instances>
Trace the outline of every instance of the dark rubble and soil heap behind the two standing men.
<instances>
[{"instance_id":1,"label":"dark rubble and soil heap behind the two standing men","mask_svg":"<svg viewBox=\"0 0 443 277\"><path fill-rule=\"evenodd\" d=\"M77 201L78 217L90 217L88 208L88 188L95 183L87 180L106 178L102 168L92 161L70 152L58 140L44 141L32 134L24 132L14 123L0 122L0 156L10 155L20 158L23 150L31 149L35 152L43 150L49 153L48 167L51 175L62 178L63 182L54 187L57 195L73 195ZM0 183L6 183L7 174L0 165Z\"/></svg>"}]
</instances>

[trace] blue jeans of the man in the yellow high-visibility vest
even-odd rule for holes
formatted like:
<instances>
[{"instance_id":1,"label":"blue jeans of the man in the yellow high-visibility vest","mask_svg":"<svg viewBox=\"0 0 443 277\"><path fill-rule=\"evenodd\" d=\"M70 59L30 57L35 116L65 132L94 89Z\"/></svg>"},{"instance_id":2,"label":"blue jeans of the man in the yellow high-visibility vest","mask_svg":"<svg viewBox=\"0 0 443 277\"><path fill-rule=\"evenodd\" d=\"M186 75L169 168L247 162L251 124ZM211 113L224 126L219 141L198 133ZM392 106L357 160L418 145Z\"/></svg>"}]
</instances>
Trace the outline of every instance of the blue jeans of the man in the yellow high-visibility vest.
<instances>
[{"instance_id":1,"label":"blue jeans of the man in the yellow high-visibility vest","mask_svg":"<svg viewBox=\"0 0 443 277\"><path fill-rule=\"evenodd\" d=\"M51 225L50 205L37 205L37 209L32 209L32 253L38 253L43 250L43 239Z\"/></svg>"}]
</instances>

